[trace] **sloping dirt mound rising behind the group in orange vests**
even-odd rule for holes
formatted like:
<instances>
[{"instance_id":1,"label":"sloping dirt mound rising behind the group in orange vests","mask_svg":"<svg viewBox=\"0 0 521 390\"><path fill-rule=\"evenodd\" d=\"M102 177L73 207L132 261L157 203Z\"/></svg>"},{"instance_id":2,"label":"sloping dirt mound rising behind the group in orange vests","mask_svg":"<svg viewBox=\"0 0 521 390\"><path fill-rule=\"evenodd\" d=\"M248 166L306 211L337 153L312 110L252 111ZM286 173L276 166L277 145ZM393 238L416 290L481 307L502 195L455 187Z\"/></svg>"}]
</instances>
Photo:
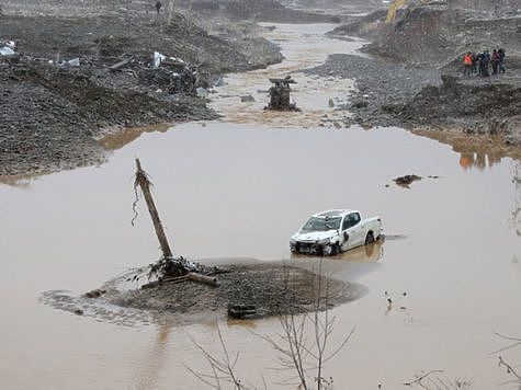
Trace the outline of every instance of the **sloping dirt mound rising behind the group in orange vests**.
<instances>
[{"instance_id":1,"label":"sloping dirt mound rising behind the group in orange vests","mask_svg":"<svg viewBox=\"0 0 521 390\"><path fill-rule=\"evenodd\" d=\"M410 5L381 23L364 51L416 66L442 68L462 54L503 47L521 53L521 18L492 16L443 4Z\"/></svg>"}]
</instances>

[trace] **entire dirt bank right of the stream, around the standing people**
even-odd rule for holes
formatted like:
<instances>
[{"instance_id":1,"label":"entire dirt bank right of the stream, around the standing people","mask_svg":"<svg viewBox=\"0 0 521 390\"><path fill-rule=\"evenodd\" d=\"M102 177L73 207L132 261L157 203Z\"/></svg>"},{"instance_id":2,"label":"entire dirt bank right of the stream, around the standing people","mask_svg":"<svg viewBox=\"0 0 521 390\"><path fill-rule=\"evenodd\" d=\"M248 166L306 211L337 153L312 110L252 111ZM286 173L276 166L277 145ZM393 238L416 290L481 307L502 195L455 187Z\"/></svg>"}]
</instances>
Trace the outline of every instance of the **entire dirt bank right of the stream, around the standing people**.
<instances>
[{"instance_id":1,"label":"entire dirt bank right of the stream, around the standing people","mask_svg":"<svg viewBox=\"0 0 521 390\"><path fill-rule=\"evenodd\" d=\"M360 60L352 58L346 59L350 64L341 71L358 78L360 92L351 107L355 112L352 121L499 134L505 142L521 145L521 18L509 10L506 7L491 14L483 7L409 1L387 22L387 13L377 11L336 28L331 34L372 39L363 51L374 57L362 60L371 77L360 73ZM498 47L507 50L506 74L463 78L464 53ZM341 67L338 58L330 62L332 68ZM431 77L424 82L422 74L435 72L443 74L443 82ZM363 95L371 100L360 101Z\"/></svg>"}]
</instances>

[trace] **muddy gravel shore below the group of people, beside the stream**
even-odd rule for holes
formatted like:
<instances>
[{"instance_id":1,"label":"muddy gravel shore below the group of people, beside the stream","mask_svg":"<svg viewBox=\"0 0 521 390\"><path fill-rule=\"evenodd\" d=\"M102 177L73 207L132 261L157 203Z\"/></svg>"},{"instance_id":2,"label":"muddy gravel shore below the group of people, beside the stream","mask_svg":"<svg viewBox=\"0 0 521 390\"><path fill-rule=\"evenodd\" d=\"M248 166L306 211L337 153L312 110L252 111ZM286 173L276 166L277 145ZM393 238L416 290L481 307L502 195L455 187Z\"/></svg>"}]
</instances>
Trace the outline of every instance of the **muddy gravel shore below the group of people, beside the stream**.
<instances>
[{"instance_id":1,"label":"muddy gravel shore below the group of people, beside the stream","mask_svg":"<svg viewBox=\"0 0 521 390\"><path fill-rule=\"evenodd\" d=\"M497 151L521 156L521 84L516 76L463 79L454 72L358 55L332 55L306 73L355 80L349 103L340 105L349 112L342 121L346 126L398 126L423 135L482 137ZM491 136L501 145L489 141Z\"/></svg>"}]
</instances>

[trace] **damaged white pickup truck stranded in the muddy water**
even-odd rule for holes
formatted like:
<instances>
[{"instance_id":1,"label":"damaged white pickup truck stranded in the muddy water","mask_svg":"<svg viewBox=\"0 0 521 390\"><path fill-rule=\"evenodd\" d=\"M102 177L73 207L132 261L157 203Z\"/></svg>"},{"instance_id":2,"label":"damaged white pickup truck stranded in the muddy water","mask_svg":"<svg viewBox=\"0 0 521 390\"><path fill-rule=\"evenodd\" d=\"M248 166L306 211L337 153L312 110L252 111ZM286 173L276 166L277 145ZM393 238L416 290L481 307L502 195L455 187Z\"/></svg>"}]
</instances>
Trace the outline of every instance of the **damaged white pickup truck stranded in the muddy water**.
<instances>
[{"instance_id":1,"label":"damaged white pickup truck stranded in the muddy water","mask_svg":"<svg viewBox=\"0 0 521 390\"><path fill-rule=\"evenodd\" d=\"M293 253L330 256L374 242L382 234L382 219L362 219L356 210L329 210L315 214L292 236Z\"/></svg>"}]
</instances>

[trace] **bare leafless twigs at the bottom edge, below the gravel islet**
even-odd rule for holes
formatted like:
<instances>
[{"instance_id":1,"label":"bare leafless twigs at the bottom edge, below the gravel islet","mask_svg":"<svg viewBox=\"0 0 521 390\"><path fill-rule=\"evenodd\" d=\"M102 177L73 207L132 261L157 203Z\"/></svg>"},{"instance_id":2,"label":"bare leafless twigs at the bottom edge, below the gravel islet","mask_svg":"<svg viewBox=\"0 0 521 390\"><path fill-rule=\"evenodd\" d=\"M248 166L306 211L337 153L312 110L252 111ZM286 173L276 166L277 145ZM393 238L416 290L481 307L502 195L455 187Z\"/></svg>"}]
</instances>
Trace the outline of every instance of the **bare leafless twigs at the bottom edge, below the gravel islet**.
<instances>
[{"instance_id":1,"label":"bare leafless twigs at the bottom edge, below the gravel islet","mask_svg":"<svg viewBox=\"0 0 521 390\"><path fill-rule=\"evenodd\" d=\"M287 273L285 275L287 284L291 280ZM293 302L287 302L287 307L284 308L285 313L279 318L281 332L275 335L257 334L279 353L278 367L273 369L293 372L283 383L297 385L302 390L331 390L333 388L332 377L326 378L324 374L325 365L338 355L354 333L354 329L351 330L339 345L330 348L329 342L335 330L336 317L331 316L329 310L329 283L326 282L324 285L322 280L320 261L319 272L314 280L316 298L313 310L302 314L299 308L294 307ZM231 357L218 325L217 334L222 349L220 356L212 355L193 341L209 364L212 374L195 371L190 367L186 369L213 389L222 389L222 383L231 385L237 390L259 389L240 379L236 372L239 353ZM262 388L267 389L262 375L261 378Z\"/></svg>"}]
</instances>

